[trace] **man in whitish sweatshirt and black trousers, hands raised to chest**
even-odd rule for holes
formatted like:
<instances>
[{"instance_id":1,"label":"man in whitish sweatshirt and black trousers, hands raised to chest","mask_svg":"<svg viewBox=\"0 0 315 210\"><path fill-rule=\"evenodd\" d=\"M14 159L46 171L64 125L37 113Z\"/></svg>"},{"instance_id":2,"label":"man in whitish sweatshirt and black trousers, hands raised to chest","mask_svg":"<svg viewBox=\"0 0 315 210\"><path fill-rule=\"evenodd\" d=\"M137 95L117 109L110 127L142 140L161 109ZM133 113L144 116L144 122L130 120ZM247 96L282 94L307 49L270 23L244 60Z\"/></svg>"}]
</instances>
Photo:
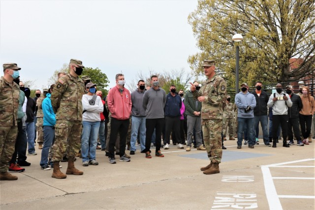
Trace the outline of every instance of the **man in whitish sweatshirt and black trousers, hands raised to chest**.
<instances>
[{"instance_id":1,"label":"man in whitish sweatshirt and black trousers, hands raised to chest","mask_svg":"<svg viewBox=\"0 0 315 210\"><path fill-rule=\"evenodd\" d=\"M276 93L271 94L269 97L269 101L267 103L268 107L272 107L272 147L277 147L277 131L279 125L282 128L282 137L284 139L283 146L290 147L286 143L287 136L287 122L289 117L287 115L287 107L292 106L292 101L290 96L285 93L282 89L282 84L278 83L276 85Z\"/></svg>"}]
</instances>

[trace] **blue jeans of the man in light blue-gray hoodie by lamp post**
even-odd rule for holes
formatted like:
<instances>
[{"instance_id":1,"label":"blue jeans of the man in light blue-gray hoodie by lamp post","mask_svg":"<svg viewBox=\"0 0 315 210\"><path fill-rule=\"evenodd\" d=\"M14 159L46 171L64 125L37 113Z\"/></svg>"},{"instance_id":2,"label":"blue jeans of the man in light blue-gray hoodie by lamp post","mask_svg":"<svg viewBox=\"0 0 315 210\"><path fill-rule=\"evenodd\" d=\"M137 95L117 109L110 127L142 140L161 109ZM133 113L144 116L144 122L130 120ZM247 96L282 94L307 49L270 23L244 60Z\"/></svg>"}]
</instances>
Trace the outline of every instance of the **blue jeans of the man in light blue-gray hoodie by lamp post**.
<instances>
[{"instance_id":1,"label":"blue jeans of the man in light blue-gray hoodie by lamp post","mask_svg":"<svg viewBox=\"0 0 315 210\"><path fill-rule=\"evenodd\" d=\"M238 131L237 131L237 145L242 146L242 140L243 140L243 131L244 127L247 127L247 139L249 145L255 145L254 142L254 132L252 124L254 122L254 118L242 118L237 117L238 121Z\"/></svg>"}]
</instances>

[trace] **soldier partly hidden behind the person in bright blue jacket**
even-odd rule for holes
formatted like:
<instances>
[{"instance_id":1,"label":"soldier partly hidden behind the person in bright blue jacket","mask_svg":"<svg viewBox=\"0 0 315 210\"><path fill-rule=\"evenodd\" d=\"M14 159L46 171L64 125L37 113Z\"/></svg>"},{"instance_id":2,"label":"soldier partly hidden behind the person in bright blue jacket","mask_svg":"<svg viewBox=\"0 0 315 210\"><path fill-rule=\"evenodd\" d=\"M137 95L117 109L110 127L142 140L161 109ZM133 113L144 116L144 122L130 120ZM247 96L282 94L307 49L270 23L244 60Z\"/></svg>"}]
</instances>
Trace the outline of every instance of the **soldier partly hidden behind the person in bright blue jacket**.
<instances>
[{"instance_id":1,"label":"soldier partly hidden behind the person in bright blue jacket","mask_svg":"<svg viewBox=\"0 0 315 210\"><path fill-rule=\"evenodd\" d=\"M37 131L37 143L38 143L38 149L43 148L43 143L44 143L44 135L43 135L43 109L41 107L41 104L43 103L43 100L46 98L46 94L48 93L48 89L43 89L43 95L40 96L37 101L36 105L38 107L37 110L37 122L36 122L36 131Z\"/></svg>"}]
</instances>

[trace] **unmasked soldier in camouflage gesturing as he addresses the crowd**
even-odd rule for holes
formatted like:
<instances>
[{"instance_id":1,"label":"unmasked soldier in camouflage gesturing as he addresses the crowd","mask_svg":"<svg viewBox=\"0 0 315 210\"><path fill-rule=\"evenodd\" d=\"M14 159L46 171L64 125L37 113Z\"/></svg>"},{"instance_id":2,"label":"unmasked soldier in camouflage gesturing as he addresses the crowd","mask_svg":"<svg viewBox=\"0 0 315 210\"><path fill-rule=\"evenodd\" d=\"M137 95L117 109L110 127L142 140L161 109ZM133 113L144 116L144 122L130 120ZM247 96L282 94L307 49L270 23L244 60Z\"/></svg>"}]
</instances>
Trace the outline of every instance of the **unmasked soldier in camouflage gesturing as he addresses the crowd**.
<instances>
[{"instance_id":1,"label":"unmasked soldier in camouflage gesturing as he addresses the crowd","mask_svg":"<svg viewBox=\"0 0 315 210\"><path fill-rule=\"evenodd\" d=\"M202 102L202 132L208 157L211 161L209 165L202 167L200 170L204 174L216 174L220 173L219 163L221 163L222 157L222 106L226 100L226 82L216 75L214 60L205 60L203 68L208 79L203 82L198 92L190 82L190 90L194 98Z\"/></svg>"}]
</instances>

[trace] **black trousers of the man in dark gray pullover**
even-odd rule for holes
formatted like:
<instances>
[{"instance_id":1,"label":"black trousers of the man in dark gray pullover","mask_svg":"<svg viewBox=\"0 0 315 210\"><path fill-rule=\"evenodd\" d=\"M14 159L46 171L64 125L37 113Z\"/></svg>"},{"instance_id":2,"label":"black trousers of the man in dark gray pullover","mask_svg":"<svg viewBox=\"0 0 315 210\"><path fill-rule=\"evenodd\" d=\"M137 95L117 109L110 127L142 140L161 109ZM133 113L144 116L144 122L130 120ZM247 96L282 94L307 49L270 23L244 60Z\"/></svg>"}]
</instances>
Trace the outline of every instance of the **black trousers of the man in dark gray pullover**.
<instances>
[{"instance_id":1,"label":"black trousers of the man in dark gray pullover","mask_svg":"<svg viewBox=\"0 0 315 210\"><path fill-rule=\"evenodd\" d=\"M146 149L143 152L150 151L151 138L154 129L156 130L156 152L161 147L161 133L164 126L164 118L148 119L146 118Z\"/></svg>"}]
</instances>

